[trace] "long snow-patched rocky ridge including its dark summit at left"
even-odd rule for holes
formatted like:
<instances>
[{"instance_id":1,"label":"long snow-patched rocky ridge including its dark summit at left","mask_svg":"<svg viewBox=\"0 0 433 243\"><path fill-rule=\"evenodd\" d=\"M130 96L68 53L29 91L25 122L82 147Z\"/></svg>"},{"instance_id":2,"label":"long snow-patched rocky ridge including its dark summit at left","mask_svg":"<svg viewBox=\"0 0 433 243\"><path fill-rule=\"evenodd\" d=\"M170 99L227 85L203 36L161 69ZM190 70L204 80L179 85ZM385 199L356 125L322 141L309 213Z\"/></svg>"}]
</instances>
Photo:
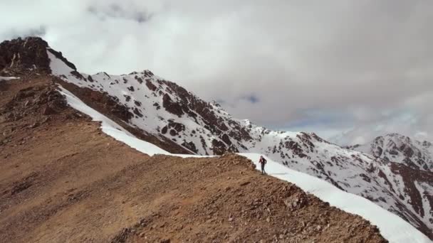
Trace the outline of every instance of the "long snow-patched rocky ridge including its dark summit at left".
<instances>
[{"instance_id":1,"label":"long snow-patched rocky ridge including its dark summit at left","mask_svg":"<svg viewBox=\"0 0 433 243\"><path fill-rule=\"evenodd\" d=\"M431 169L427 161L422 164L417 160L417 165L423 168L419 170L410 163L395 163L362 149L355 151L330 144L313 133L271 131L249 120L235 119L219 104L206 102L148 70L129 75L78 72L61 53L38 38L15 40L6 45L13 48L3 47L10 52L6 55L10 58L0 60L0 75L23 75L23 68L28 72L51 73L54 82L90 107L166 151L197 155L219 155L226 151L265 154L288 168L322 178L375 202L433 239L433 173L424 168L427 164ZM29 47L38 55L29 55ZM409 154L401 144L388 147ZM431 148L431 144L425 147ZM383 145L381 148L384 150Z\"/></svg>"}]
</instances>

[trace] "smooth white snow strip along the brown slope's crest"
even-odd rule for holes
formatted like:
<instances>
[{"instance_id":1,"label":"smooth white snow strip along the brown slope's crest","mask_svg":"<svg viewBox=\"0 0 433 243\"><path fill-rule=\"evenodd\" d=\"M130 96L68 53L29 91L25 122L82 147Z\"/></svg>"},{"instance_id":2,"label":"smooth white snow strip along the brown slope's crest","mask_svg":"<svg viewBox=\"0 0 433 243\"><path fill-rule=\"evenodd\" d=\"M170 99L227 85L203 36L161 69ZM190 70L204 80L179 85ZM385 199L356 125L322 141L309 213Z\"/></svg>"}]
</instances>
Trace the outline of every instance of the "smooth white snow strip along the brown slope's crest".
<instances>
[{"instance_id":1,"label":"smooth white snow strip along the brown slope's crest","mask_svg":"<svg viewBox=\"0 0 433 243\"><path fill-rule=\"evenodd\" d=\"M95 109L92 109L81 102L80 99L71 94L71 92L68 92L68 90L63 89L62 87L60 87L60 89L61 93L66 96L66 100L71 107L88 114L88 116L92 117L95 121L102 121L101 127L105 134L113 136L116 140L122 141L132 148L136 148L142 153L147 153L149 155L154 155L156 153L170 154L153 144L135 138L125 131L125 129L122 129L121 126L115 124L114 121L111 121L103 114L100 114L95 111ZM259 161L260 156L259 153L240 153L240 155L251 159L251 161ZM188 155L182 156L191 157ZM273 162L270 159L268 159L266 170L269 175L295 183L308 193L317 196L325 202L329 202L330 205L338 207L345 212L350 212L364 217L366 220L372 222L373 225L377 225L382 236L390 242L430 242L424 234L418 232L417 229L412 227L412 225L409 225L409 223L405 222L400 217L383 210L381 207L378 207L365 198L345 193L343 190L339 190L330 183L326 183L323 180L305 173L293 171L286 166L281 165L281 163Z\"/></svg>"}]
</instances>

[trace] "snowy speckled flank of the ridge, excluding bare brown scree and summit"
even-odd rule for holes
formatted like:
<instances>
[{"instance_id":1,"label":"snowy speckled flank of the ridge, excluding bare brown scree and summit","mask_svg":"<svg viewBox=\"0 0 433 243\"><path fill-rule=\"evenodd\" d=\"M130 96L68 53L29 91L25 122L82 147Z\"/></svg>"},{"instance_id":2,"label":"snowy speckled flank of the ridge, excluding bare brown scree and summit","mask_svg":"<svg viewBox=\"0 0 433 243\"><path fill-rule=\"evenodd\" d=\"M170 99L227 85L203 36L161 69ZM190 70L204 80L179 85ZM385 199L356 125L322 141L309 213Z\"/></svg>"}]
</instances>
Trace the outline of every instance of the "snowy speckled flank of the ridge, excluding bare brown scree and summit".
<instances>
[{"instance_id":1,"label":"snowy speckled flank of the ridge, excluding bare brown scree and summit","mask_svg":"<svg viewBox=\"0 0 433 243\"><path fill-rule=\"evenodd\" d=\"M78 87L106 94L127 107L132 118L125 123L132 127L165 136L198 155L219 155L226 151L265 154L288 168L375 202L433 239L433 209L424 210L420 206L422 198L416 186L409 182L411 175L405 168L330 144L315 134L271 131L248 120L234 119L218 104L204 102L150 71L86 75L47 53L53 75Z\"/></svg>"}]
</instances>

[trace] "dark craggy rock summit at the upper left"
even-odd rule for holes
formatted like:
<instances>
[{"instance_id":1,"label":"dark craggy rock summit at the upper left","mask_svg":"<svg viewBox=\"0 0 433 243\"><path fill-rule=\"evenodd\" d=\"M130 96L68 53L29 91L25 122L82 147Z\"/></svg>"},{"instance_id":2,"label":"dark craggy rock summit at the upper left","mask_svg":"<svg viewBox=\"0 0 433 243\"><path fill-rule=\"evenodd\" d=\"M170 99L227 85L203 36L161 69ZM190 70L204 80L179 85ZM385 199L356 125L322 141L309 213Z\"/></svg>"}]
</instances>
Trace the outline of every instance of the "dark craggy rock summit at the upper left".
<instances>
[{"instance_id":1,"label":"dark craggy rock summit at the upper left","mask_svg":"<svg viewBox=\"0 0 433 243\"><path fill-rule=\"evenodd\" d=\"M50 73L48 43L38 37L0 43L0 75L22 75L28 70Z\"/></svg>"}]
</instances>

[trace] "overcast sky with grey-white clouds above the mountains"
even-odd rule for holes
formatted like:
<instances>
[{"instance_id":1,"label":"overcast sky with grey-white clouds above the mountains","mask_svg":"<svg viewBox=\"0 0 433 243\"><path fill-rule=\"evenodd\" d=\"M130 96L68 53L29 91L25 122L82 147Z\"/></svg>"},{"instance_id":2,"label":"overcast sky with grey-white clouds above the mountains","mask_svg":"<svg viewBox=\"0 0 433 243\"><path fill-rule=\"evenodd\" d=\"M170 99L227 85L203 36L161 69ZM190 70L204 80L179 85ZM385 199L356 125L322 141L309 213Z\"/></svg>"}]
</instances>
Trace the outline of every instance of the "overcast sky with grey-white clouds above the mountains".
<instances>
[{"instance_id":1,"label":"overcast sky with grey-white clouds above the mountains","mask_svg":"<svg viewBox=\"0 0 433 243\"><path fill-rule=\"evenodd\" d=\"M152 70L272 129L433 140L431 0L58 2L0 1L0 38L42 36L81 72Z\"/></svg>"}]
</instances>

